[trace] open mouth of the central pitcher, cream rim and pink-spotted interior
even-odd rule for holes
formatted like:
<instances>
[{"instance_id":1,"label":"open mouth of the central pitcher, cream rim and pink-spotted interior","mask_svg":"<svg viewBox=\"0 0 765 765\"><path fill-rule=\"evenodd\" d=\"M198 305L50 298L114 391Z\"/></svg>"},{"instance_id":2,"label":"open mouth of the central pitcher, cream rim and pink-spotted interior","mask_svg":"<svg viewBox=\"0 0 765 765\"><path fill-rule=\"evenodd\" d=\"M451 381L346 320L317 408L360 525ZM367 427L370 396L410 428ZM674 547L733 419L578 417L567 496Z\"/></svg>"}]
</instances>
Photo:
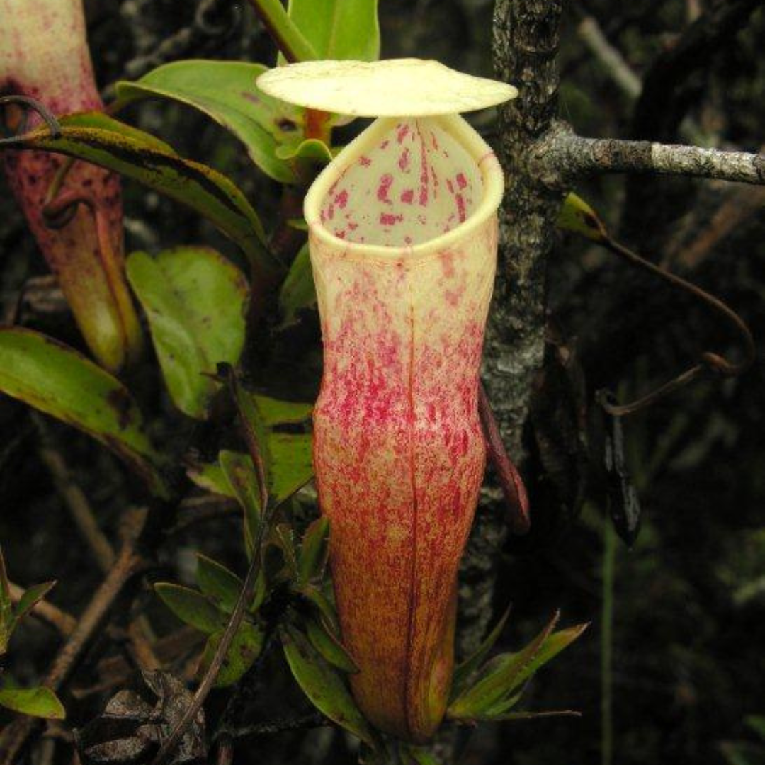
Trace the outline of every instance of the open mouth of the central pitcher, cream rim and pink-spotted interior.
<instances>
[{"instance_id":1,"label":"open mouth of the central pitcher, cream rim and pink-spotted interior","mask_svg":"<svg viewBox=\"0 0 765 765\"><path fill-rule=\"evenodd\" d=\"M311 236L346 257L412 262L470 236L503 187L499 161L461 116L385 117L324 168L304 215Z\"/></svg>"}]
</instances>

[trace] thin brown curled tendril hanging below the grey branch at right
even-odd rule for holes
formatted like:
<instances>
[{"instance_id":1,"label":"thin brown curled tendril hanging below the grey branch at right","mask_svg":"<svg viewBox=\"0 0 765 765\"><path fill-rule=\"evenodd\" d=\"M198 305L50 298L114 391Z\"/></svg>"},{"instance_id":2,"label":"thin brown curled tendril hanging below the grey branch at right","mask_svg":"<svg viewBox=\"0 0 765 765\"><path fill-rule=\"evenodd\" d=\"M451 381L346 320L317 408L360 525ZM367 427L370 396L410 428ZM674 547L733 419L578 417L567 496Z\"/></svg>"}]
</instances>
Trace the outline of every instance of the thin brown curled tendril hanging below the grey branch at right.
<instances>
[{"instance_id":1,"label":"thin brown curled tendril hanging below the grey branch at right","mask_svg":"<svg viewBox=\"0 0 765 765\"><path fill-rule=\"evenodd\" d=\"M678 376L669 380L669 382L665 382L662 386L647 393L646 396L642 396L640 399L636 399L627 404L617 403L616 396L614 396L612 392L602 389L597 392L596 400L606 412L614 417L631 415L634 412L640 412L641 409L646 409L646 407L656 403L659 399L669 396L670 393L687 386L690 382L693 382L693 380L705 373L715 373L725 377L735 377L744 373L754 363L754 360L757 358L757 347L754 343L754 337L744 320L732 308L719 298L715 298L715 295L710 295L708 292L702 290L702 288L697 287L690 282L686 282L685 279L680 278L669 271L665 271L658 265L641 258L636 252L627 249L627 247L614 241L614 239L611 239L610 236L606 236L601 243L607 249L610 249L611 252L614 252L614 254L630 263L630 265L635 265L637 268L659 276L659 278L668 282L672 287L687 292L705 304L708 308L711 308L715 313L728 321L728 324L734 328L744 347L744 358L739 363L734 363L726 359L720 353L705 351L701 354L695 366L686 369L685 372L680 373Z\"/></svg>"}]
</instances>

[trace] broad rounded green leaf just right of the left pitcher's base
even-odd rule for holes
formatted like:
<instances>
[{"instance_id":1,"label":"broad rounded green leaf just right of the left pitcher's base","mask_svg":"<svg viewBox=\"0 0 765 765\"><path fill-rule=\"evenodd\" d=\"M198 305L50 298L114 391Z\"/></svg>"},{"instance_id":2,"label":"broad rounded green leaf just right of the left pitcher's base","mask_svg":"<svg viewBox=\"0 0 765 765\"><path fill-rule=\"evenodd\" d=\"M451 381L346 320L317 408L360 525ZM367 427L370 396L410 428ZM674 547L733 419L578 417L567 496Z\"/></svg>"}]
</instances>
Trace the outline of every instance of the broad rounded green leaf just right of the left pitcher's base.
<instances>
[{"instance_id":1,"label":"broad rounded green leaf just right of the left pitcher's base","mask_svg":"<svg viewBox=\"0 0 765 765\"><path fill-rule=\"evenodd\" d=\"M244 346L246 278L207 247L178 247L154 258L133 252L127 272L173 402L206 419L220 389L217 364L236 363Z\"/></svg>"}]
</instances>

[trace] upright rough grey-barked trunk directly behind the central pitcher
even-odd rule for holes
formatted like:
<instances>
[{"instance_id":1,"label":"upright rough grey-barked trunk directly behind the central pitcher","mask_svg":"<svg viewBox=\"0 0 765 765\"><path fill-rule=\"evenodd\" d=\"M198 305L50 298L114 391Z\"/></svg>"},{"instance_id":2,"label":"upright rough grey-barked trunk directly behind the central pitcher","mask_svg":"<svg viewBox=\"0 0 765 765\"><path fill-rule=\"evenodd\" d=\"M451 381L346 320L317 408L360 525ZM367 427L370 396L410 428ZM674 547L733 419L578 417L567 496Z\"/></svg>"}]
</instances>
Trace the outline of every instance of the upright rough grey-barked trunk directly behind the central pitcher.
<instances>
[{"instance_id":1,"label":"upright rough grey-barked trunk directly behind the central pitcher","mask_svg":"<svg viewBox=\"0 0 765 765\"><path fill-rule=\"evenodd\" d=\"M522 428L545 347L545 264L555 240L560 194L539 177L535 145L558 103L560 0L498 0L493 53L496 76L519 96L500 109L499 157L506 174L500 209L500 262L484 347L483 382L506 447L522 457ZM492 615L496 558L506 521L487 493L463 564L463 652L480 642Z\"/></svg>"}]
</instances>

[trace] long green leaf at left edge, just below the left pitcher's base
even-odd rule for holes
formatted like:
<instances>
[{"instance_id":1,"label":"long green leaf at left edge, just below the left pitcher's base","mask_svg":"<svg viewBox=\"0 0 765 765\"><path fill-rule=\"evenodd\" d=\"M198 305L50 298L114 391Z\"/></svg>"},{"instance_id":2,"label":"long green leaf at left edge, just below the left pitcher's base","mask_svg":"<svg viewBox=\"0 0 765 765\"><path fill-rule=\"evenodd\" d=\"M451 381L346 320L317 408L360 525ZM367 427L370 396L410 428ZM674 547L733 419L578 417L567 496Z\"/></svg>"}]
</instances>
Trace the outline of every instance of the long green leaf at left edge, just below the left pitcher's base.
<instances>
[{"instance_id":1,"label":"long green leaf at left edge, just below the left pitcher's base","mask_svg":"<svg viewBox=\"0 0 765 765\"><path fill-rule=\"evenodd\" d=\"M0 328L0 392L85 431L167 496L164 458L128 389L77 351L33 330Z\"/></svg>"}]
</instances>

